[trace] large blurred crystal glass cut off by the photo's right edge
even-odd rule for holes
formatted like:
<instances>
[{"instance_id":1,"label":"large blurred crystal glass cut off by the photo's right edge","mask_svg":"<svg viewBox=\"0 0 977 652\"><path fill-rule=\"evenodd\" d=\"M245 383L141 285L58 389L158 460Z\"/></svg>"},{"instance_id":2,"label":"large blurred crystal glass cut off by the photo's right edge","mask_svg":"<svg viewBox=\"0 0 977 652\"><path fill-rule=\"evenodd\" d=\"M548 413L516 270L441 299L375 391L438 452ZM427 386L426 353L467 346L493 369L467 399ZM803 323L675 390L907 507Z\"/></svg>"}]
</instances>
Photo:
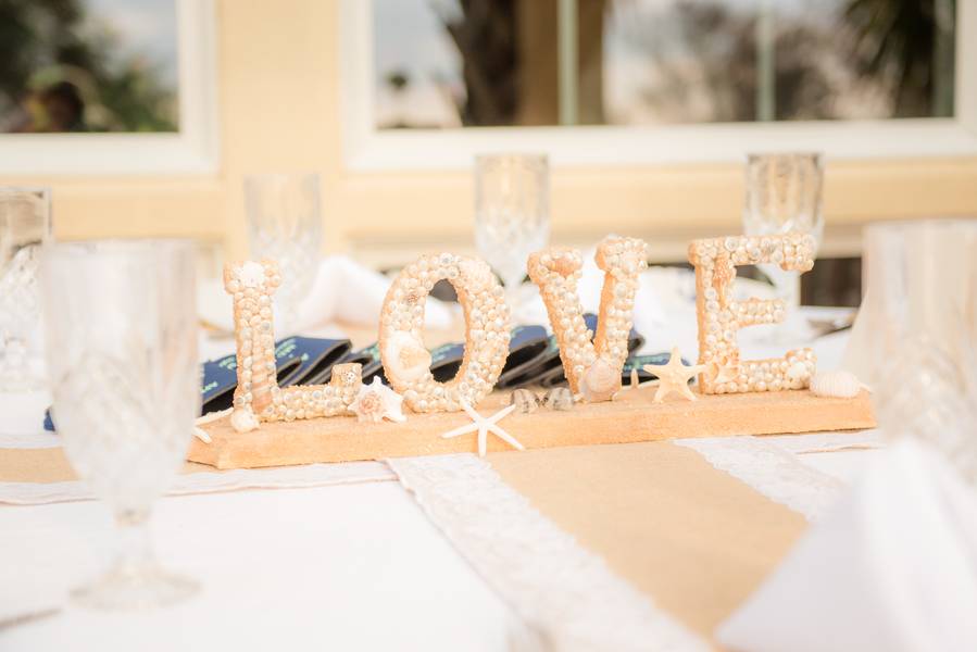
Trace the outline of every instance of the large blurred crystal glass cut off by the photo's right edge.
<instances>
[{"instance_id":1,"label":"large blurred crystal glass cut off by the photo's right edge","mask_svg":"<svg viewBox=\"0 0 977 652\"><path fill-rule=\"evenodd\" d=\"M977 220L880 222L863 242L844 366L882 432L929 442L977 485Z\"/></svg>"}]
</instances>

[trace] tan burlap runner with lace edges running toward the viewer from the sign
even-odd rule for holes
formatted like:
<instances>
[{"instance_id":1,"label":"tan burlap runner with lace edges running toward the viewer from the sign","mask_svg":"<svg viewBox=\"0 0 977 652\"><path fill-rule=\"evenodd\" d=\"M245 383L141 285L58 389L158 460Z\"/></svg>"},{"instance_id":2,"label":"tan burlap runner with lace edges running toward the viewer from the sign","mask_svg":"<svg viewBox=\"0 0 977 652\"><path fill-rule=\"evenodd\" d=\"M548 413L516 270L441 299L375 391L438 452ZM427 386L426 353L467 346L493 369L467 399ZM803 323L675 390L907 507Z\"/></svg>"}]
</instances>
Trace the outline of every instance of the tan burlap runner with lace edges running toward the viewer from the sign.
<instances>
[{"instance_id":1,"label":"tan burlap runner with lace edges running toward the viewer from the sign","mask_svg":"<svg viewBox=\"0 0 977 652\"><path fill-rule=\"evenodd\" d=\"M877 443L844 437L806 447ZM541 649L559 650L709 649L844 487L754 437L388 463Z\"/></svg>"}]
</instances>

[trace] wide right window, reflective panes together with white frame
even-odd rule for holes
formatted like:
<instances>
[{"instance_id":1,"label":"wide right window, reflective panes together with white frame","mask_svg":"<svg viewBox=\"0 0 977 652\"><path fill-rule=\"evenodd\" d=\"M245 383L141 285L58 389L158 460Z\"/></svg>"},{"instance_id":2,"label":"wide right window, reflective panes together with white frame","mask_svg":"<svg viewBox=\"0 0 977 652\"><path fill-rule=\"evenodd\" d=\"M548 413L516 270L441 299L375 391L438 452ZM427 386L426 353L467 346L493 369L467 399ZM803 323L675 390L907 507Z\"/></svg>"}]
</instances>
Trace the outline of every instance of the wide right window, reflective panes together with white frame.
<instances>
[{"instance_id":1,"label":"wide right window, reflective panes together with white frame","mask_svg":"<svg viewBox=\"0 0 977 652\"><path fill-rule=\"evenodd\" d=\"M977 3L340 0L351 171L977 154Z\"/></svg>"}]
</instances>

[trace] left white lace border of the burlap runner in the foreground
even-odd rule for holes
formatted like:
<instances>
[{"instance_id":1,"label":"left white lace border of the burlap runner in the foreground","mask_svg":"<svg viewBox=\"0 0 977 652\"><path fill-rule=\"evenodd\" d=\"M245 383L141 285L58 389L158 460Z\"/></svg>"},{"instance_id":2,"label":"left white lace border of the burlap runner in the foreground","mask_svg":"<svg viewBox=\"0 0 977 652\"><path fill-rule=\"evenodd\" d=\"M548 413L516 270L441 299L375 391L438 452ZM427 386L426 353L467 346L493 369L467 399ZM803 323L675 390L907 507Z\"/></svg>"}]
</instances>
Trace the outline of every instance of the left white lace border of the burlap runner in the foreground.
<instances>
[{"instance_id":1,"label":"left white lace border of the burlap runner in the foreground","mask_svg":"<svg viewBox=\"0 0 977 652\"><path fill-rule=\"evenodd\" d=\"M388 460L538 650L709 650L475 455Z\"/></svg>"}]
</instances>

